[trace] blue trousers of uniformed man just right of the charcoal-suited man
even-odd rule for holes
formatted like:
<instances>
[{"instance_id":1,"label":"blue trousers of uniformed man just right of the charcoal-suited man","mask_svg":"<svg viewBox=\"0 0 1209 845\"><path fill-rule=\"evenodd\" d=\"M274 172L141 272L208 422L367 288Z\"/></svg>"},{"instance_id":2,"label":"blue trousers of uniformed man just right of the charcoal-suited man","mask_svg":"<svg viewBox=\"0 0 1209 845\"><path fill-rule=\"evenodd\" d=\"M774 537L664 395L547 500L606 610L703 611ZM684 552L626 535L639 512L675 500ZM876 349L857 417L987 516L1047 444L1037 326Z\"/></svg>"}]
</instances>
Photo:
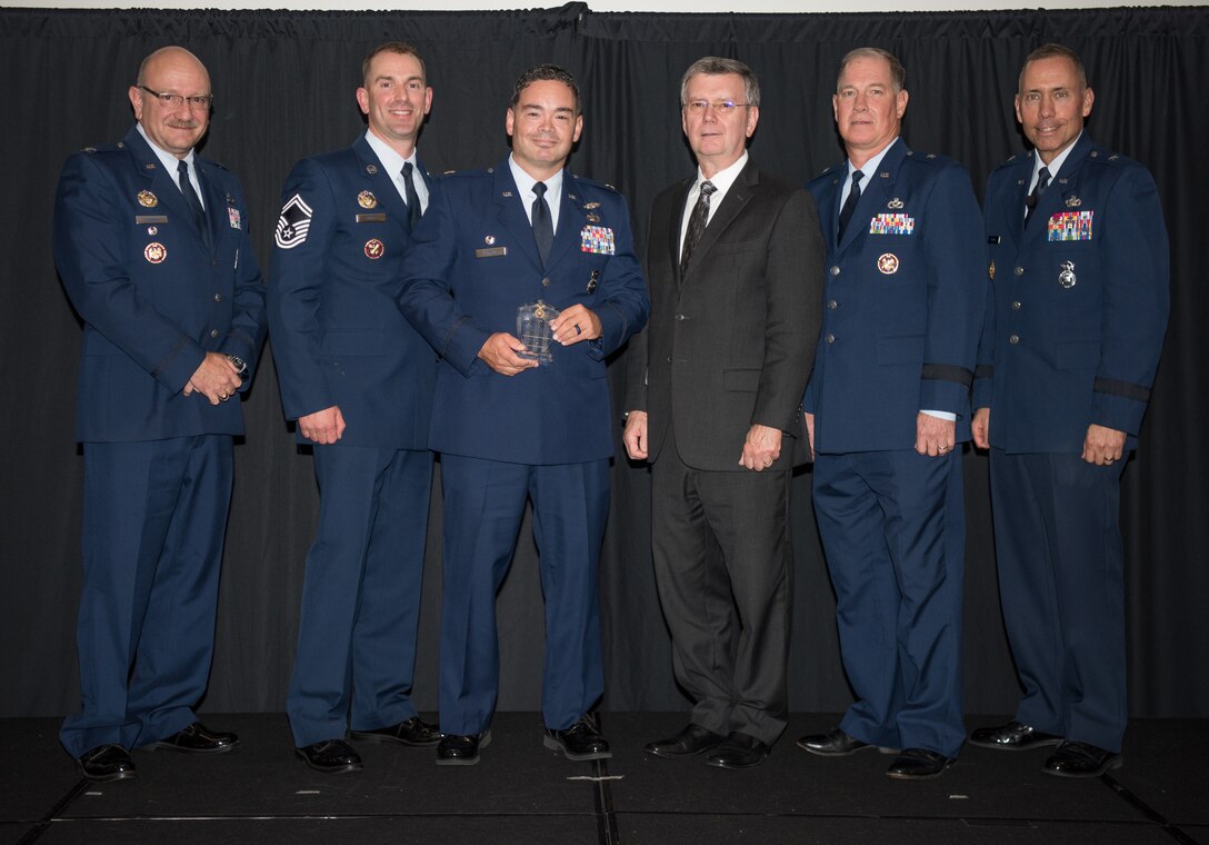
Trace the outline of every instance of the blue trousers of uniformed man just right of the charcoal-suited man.
<instances>
[{"instance_id":1,"label":"blue trousers of uniformed man just right of the charcoal-suited man","mask_svg":"<svg viewBox=\"0 0 1209 845\"><path fill-rule=\"evenodd\" d=\"M961 452L818 455L814 499L858 701L840 728L956 757L962 720Z\"/></svg>"}]
</instances>

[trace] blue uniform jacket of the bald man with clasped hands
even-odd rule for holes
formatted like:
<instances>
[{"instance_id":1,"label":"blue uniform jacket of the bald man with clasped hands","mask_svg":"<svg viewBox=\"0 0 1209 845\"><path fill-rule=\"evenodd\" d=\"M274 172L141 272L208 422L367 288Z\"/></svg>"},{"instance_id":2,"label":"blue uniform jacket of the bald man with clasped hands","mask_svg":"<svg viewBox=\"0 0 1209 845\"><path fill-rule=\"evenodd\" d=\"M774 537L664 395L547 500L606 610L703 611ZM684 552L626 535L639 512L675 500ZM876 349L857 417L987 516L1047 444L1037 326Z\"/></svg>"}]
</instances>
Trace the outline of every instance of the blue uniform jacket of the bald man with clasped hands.
<instances>
[{"instance_id":1,"label":"blue uniform jacket of the bald man with clasped hands","mask_svg":"<svg viewBox=\"0 0 1209 845\"><path fill-rule=\"evenodd\" d=\"M195 166L212 245L177 174L137 127L63 166L54 262L85 324L81 442L243 433L239 403L181 395L207 352L238 355L250 376L265 338L265 289L239 183L199 156Z\"/></svg>"}]
</instances>

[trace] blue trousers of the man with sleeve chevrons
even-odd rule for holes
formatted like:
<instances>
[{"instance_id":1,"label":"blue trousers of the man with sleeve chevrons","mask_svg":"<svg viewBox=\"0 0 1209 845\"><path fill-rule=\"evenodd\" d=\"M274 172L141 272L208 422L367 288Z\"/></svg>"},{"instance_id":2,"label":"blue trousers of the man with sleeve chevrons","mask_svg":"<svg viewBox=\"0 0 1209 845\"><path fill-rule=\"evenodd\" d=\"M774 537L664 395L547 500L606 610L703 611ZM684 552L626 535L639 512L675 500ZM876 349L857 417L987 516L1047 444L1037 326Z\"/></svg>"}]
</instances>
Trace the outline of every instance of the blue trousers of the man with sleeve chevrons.
<instances>
[{"instance_id":1,"label":"blue trousers of the man with sleeve chevrons","mask_svg":"<svg viewBox=\"0 0 1209 845\"><path fill-rule=\"evenodd\" d=\"M411 704L428 451L316 446L319 525L306 558L287 698L297 746L398 724Z\"/></svg>"}]
</instances>

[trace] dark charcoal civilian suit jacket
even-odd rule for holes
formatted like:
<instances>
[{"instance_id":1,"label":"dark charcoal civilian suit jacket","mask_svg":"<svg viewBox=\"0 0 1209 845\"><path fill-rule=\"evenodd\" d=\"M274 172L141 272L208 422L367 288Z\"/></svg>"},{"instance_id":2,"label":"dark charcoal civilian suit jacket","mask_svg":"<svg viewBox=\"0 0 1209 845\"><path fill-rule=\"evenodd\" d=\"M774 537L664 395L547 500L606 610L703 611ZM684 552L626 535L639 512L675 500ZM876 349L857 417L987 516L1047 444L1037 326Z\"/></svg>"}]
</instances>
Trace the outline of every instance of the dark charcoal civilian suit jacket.
<instances>
[{"instance_id":1,"label":"dark charcoal civilian suit jacket","mask_svg":"<svg viewBox=\"0 0 1209 845\"><path fill-rule=\"evenodd\" d=\"M823 256L815 202L748 160L679 272L694 178L652 206L646 273L650 319L631 341L627 410L646 411L649 461L675 427L694 469L739 464L753 423L780 428L774 468L805 459L799 405L822 322Z\"/></svg>"}]
</instances>

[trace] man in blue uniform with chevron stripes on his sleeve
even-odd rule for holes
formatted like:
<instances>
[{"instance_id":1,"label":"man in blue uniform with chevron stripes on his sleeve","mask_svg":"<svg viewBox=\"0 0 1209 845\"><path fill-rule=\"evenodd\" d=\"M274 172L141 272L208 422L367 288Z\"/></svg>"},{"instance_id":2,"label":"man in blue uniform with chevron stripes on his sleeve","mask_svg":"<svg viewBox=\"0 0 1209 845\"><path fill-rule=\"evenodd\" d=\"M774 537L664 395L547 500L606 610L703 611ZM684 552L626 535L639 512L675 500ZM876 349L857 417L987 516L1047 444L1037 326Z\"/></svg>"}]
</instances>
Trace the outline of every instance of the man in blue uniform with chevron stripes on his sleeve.
<instances>
[{"instance_id":1,"label":"man in blue uniform with chevron stripes on his sleeve","mask_svg":"<svg viewBox=\"0 0 1209 845\"><path fill-rule=\"evenodd\" d=\"M306 158L283 191L268 320L285 416L313 444L319 525L307 555L287 710L299 757L357 771L345 741L434 745L411 704L433 458L436 363L395 306L433 186L416 157L424 64L392 41L361 65L365 135Z\"/></svg>"}]
</instances>

